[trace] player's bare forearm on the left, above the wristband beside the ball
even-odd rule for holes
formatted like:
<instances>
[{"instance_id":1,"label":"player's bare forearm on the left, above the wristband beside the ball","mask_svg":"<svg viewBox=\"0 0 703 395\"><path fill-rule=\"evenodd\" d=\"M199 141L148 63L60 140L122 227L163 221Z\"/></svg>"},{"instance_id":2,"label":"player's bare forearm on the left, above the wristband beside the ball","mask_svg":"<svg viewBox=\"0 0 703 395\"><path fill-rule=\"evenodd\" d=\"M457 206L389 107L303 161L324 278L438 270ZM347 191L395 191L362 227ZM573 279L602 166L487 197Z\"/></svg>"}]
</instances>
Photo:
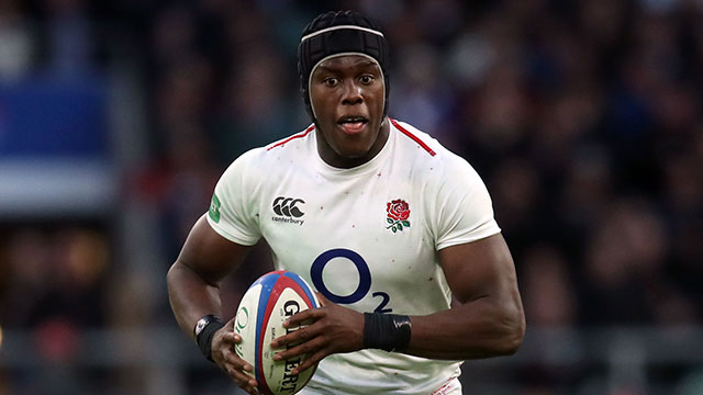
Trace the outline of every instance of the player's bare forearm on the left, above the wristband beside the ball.
<instances>
[{"instance_id":1,"label":"player's bare forearm on the left, above the wristband beside the ball","mask_svg":"<svg viewBox=\"0 0 703 395\"><path fill-rule=\"evenodd\" d=\"M176 261L166 276L168 300L178 325L192 336L196 323L208 314L222 316L220 289L210 284L188 266Z\"/></svg>"}]
</instances>

